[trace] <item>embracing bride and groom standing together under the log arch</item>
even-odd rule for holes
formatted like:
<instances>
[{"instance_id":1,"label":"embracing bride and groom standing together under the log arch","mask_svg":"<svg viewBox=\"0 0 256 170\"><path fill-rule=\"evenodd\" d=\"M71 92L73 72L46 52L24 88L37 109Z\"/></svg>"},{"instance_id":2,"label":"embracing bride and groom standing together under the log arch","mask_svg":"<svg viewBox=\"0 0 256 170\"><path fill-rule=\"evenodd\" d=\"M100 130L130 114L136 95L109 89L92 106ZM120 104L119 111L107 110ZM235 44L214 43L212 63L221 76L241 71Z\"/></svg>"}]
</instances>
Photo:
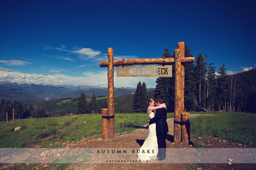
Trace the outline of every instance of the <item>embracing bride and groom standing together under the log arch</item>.
<instances>
[{"instance_id":1,"label":"embracing bride and groom standing together under the log arch","mask_svg":"<svg viewBox=\"0 0 256 170\"><path fill-rule=\"evenodd\" d=\"M150 159L164 160L166 158L166 136L169 132L166 122L166 105L160 97L148 99L147 115L150 118L149 132L146 140L137 153L137 159L140 162L146 162Z\"/></svg>"}]
</instances>

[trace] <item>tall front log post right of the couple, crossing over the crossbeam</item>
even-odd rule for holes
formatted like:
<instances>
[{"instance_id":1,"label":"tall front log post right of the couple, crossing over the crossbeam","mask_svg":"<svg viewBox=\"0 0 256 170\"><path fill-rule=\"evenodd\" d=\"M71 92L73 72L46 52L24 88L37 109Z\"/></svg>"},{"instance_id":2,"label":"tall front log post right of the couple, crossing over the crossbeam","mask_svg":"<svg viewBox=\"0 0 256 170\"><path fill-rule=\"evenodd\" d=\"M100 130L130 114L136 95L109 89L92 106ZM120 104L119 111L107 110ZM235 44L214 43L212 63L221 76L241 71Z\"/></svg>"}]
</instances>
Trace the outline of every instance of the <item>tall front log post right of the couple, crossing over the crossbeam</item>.
<instances>
[{"instance_id":1,"label":"tall front log post right of the couple, crossing over the crossbeam","mask_svg":"<svg viewBox=\"0 0 256 170\"><path fill-rule=\"evenodd\" d=\"M173 139L181 141L181 49L174 50L175 77L174 77L174 130Z\"/></svg>"}]
</instances>

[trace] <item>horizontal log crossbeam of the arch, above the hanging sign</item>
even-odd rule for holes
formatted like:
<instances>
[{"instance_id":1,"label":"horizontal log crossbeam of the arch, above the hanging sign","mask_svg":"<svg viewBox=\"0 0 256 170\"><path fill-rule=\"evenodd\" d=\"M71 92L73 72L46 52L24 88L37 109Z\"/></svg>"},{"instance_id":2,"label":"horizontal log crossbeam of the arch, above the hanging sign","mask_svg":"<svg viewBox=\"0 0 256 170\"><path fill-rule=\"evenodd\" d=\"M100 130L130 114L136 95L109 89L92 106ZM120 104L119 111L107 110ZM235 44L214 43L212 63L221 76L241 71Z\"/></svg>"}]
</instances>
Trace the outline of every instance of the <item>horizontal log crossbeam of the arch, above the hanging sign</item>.
<instances>
[{"instance_id":1,"label":"horizontal log crossbeam of the arch, above the hanging sign","mask_svg":"<svg viewBox=\"0 0 256 170\"><path fill-rule=\"evenodd\" d=\"M165 61L165 62L164 62ZM195 57L182 58L181 63L194 63ZM113 66L174 64L174 58L143 58L133 60L115 60ZM108 67L108 62L100 62L100 67Z\"/></svg>"}]
</instances>

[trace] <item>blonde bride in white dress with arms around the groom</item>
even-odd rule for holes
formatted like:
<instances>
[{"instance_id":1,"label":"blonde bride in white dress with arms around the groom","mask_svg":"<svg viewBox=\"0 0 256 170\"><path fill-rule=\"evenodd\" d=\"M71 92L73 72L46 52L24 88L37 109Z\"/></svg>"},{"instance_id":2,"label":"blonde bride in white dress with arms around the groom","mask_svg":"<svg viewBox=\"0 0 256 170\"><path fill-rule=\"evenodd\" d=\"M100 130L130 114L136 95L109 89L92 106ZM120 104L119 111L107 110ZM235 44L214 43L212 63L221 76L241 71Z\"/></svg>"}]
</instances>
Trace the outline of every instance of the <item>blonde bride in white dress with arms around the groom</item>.
<instances>
[{"instance_id":1,"label":"blonde bride in white dress with arms around the groom","mask_svg":"<svg viewBox=\"0 0 256 170\"><path fill-rule=\"evenodd\" d=\"M154 106L155 102L154 99L150 98L147 101L148 108L147 108L147 115L150 119L152 119L156 111L155 109L166 107L165 103L161 104L160 106ZM137 151L137 159L140 162L146 162L150 159L156 159L158 153L158 145L157 145L157 137L156 137L156 123L152 123L148 126L148 136L144 141L143 145L141 146L140 150Z\"/></svg>"}]
</instances>

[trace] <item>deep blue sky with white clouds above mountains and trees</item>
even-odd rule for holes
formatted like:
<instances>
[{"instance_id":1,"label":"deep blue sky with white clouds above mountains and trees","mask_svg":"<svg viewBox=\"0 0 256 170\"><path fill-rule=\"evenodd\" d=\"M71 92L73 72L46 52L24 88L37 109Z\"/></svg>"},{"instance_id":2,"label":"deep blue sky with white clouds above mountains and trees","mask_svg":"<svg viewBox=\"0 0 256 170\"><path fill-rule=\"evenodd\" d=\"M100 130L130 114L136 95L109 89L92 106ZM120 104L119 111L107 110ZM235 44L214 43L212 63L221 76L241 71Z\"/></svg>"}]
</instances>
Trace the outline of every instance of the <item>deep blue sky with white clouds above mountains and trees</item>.
<instances>
[{"instance_id":1,"label":"deep blue sky with white clouds above mountains and trees","mask_svg":"<svg viewBox=\"0 0 256 170\"><path fill-rule=\"evenodd\" d=\"M185 42L216 71L256 64L255 0L0 1L0 81L107 87L114 60L159 58ZM155 88L156 78L114 78L115 87Z\"/></svg>"}]
</instances>

